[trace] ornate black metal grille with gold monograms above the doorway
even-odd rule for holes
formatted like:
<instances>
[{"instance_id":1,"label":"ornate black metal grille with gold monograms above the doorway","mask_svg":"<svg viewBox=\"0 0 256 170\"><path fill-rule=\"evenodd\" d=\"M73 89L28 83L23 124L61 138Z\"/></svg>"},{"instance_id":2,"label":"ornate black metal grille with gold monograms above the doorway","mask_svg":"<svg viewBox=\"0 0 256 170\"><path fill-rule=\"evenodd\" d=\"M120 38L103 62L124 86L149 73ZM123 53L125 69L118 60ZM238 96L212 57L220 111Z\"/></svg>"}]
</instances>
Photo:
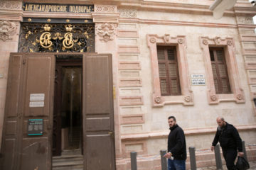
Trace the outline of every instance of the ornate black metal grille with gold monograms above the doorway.
<instances>
[{"instance_id":1,"label":"ornate black metal grille with gold monograms above the doorway","mask_svg":"<svg viewBox=\"0 0 256 170\"><path fill-rule=\"evenodd\" d=\"M95 52L95 25L21 23L18 52Z\"/></svg>"}]
</instances>

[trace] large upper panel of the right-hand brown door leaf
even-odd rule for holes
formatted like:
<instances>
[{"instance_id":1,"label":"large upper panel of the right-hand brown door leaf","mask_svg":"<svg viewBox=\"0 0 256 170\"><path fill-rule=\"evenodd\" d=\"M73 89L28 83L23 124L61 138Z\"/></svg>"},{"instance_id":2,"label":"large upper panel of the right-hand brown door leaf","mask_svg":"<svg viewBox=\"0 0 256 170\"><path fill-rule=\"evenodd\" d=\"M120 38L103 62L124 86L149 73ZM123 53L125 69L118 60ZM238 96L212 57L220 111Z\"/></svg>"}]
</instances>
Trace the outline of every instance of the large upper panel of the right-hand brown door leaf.
<instances>
[{"instance_id":1,"label":"large upper panel of the right-hand brown door leaf","mask_svg":"<svg viewBox=\"0 0 256 170\"><path fill-rule=\"evenodd\" d=\"M86 114L110 114L109 60L108 56L86 57Z\"/></svg>"}]
</instances>

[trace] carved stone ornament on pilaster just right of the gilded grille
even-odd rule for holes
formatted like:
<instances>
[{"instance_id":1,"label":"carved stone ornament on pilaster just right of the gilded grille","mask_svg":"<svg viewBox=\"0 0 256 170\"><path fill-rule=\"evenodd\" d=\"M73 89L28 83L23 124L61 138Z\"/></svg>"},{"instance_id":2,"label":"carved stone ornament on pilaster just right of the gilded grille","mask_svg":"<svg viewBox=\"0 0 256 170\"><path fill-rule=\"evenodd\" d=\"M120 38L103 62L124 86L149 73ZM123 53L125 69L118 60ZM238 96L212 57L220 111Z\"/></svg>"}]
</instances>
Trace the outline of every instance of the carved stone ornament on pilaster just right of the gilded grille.
<instances>
[{"instance_id":1,"label":"carved stone ornament on pilaster just right of the gilded grille","mask_svg":"<svg viewBox=\"0 0 256 170\"><path fill-rule=\"evenodd\" d=\"M114 36L117 35L117 24L116 23L96 24L96 35L99 35L100 40L104 42L114 40Z\"/></svg>"}]
</instances>

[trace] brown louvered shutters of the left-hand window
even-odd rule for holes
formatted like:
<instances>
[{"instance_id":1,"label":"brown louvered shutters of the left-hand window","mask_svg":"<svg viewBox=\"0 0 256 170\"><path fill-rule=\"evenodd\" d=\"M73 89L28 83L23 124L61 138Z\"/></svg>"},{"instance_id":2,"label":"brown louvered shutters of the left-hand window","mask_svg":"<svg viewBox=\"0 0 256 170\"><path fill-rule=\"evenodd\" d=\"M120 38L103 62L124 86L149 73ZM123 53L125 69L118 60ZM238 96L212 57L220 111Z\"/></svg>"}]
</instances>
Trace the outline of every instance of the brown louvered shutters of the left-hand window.
<instances>
[{"instance_id":1,"label":"brown louvered shutters of the left-hand window","mask_svg":"<svg viewBox=\"0 0 256 170\"><path fill-rule=\"evenodd\" d=\"M157 46L161 96L181 95L176 48Z\"/></svg>"}]
</instances>

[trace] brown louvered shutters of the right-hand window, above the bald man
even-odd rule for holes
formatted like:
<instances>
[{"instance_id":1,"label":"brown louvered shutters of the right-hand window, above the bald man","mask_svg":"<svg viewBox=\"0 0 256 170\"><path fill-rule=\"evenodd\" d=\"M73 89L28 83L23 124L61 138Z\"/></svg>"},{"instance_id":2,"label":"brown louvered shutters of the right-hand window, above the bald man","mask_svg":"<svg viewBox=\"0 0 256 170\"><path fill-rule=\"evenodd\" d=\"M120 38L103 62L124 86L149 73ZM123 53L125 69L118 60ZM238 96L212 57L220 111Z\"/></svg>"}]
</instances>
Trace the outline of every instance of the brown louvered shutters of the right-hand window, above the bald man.
<instances>
[{"instance_id":1,"label":"brown louvered shutters of the right-hand window, above the bald man","mask_svg":"<svg viewBox=\"0 0 256 170\"><path fill-rule=\"evenodd\" d=\"M230 94L230 83L223 48L210 48L210 61L216 94Z\"/></svg>"}]
</instances>

